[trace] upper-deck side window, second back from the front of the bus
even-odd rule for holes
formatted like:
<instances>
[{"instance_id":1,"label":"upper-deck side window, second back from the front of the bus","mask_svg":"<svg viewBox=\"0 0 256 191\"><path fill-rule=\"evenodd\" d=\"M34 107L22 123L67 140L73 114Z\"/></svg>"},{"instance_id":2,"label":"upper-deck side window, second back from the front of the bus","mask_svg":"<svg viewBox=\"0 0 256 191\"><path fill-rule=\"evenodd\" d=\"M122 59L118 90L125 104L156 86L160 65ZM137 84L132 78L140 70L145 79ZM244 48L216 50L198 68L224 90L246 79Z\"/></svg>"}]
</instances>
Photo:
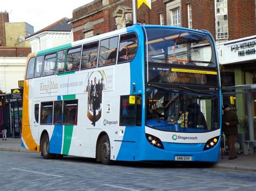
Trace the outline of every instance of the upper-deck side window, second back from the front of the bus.
<instances>
[{"instance_id":1,"label":"upper-deck side window, second back from the front of the bus","mask_svg":"<svg viewBox=\"0 0 256 191\"><path fill-rule=\"evenodd\" d=\"M118 37L100 41L98 66L113 65L117 59Z\"/></svg>"}]
</instances>

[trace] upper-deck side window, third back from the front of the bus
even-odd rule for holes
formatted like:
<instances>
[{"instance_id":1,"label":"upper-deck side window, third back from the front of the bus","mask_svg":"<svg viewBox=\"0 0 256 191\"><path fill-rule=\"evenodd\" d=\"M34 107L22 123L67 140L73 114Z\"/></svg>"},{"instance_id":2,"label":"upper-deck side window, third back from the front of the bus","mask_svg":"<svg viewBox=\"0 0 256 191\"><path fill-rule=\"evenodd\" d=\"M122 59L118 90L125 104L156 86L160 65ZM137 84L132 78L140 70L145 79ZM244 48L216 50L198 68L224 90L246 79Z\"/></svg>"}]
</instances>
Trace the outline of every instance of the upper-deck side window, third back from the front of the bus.
<instances>
[{"instance_id":1,"label":"upper-deck side window, third back from the front of the bus","mask_svg":"<svg viewBox=\"0 0 256 191\"><path fill-rule=\"evenodd\" d=\"M98 42L83 46L81 69L95 68L97 66L98 46Z\"/></svg>"}]
</instances>

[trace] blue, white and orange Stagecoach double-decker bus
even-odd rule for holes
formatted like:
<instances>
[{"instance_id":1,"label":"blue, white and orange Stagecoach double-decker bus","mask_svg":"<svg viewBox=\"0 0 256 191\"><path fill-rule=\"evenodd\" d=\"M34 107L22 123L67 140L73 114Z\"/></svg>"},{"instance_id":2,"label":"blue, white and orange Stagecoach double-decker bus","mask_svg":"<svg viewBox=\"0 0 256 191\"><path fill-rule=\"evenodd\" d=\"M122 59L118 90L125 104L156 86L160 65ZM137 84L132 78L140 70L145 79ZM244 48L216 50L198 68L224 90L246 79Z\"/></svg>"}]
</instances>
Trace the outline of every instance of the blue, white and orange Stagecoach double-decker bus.
<instances>
[{"instance_id":1,"label":"blue, white and orange Stagecoach double-decker bus","mask_svg":"<svg viewBox=\"0 0 256 191\"><path fill-rule=\"evenodd\" d=\"M221 90L207 31L135 24L28 56L22 146L119 161L217 162Z\"/></svg>"}]
</instances>

